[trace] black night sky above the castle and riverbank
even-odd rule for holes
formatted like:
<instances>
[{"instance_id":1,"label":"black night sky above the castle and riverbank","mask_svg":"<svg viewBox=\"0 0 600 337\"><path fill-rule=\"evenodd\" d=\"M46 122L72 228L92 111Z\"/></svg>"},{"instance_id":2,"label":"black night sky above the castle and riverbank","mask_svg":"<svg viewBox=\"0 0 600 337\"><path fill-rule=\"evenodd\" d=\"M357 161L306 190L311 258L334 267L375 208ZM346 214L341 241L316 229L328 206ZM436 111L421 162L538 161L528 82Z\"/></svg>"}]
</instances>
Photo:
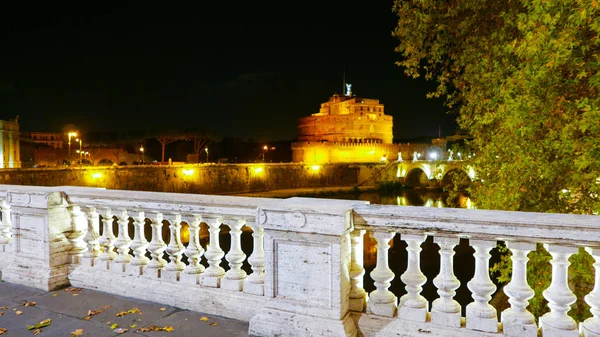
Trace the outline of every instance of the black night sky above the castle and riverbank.
<instances>
[{"instance_id":1,"label":"black night sky above the castle and riverbank","mask_svg":"<svg viewBox=\"0 0 600 337\"><path fill-rule=\"evenodd\" d=\"M394 64L392 1L205 2L1 8L0 118L19 115L21 131L287 140L342 92L345 68L356 95L385 104L396 138L454 133L442 102L425 99L432 84Z\"/></svg>"}]
</instances>

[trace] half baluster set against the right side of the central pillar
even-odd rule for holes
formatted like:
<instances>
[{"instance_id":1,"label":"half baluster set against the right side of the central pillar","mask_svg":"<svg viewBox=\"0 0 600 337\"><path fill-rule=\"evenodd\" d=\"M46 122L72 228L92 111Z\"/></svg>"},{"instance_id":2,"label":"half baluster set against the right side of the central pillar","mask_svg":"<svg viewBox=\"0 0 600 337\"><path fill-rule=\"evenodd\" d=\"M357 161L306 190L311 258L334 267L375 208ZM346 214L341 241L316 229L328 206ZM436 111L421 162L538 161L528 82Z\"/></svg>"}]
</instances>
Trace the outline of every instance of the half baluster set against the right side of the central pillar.
<instances>
[{"instance_id":1,"label":"half baluster set against the right side of the central pillar","mask_svg":"<svg viewBox=\"0 0 600 337\"><path fill-rule=\"evenodd\" d=\"M367 305L367 292L363 289L363 236L365 230L350 233L350 310L363 312Z\"/></svg>"}]
</instances>

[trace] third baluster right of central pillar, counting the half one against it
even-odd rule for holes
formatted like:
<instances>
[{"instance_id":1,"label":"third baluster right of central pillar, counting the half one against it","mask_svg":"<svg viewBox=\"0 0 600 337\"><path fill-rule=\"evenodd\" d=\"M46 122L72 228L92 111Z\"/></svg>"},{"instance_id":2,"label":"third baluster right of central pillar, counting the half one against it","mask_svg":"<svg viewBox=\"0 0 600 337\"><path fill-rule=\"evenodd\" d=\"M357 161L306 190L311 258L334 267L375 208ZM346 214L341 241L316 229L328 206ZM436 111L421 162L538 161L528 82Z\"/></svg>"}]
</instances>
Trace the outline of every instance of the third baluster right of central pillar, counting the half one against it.
<instances>
[{"instance_id":1,"label":"third baluster right of central pillar, counting the half one against it","mask_svg":"<svg viewBox=\"0 0 600 337\"><path fill-rule=\"evenodd\" d=\"M400 298L398 317L411 321L425 322L427 319L427 300L421 295L427 277L421 272L421 244L426 235L402 235L408 247L408 266L400 279L406 284L406 295Z\"/></svg>"}]
</instances>

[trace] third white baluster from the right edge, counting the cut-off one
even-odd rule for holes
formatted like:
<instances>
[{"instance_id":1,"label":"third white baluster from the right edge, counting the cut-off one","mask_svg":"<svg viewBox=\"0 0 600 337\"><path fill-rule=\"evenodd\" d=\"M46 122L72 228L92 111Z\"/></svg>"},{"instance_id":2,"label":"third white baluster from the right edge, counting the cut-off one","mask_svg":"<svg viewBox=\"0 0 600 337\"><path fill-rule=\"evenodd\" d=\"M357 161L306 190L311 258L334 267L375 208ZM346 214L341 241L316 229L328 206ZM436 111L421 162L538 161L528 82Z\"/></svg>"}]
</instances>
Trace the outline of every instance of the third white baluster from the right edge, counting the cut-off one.
<instances>
[{"instance_id":1,"label":"third white baluster from the right edge, counting the cut-off one","mask_svg":"<svg viewBox=\"0 0 600 337\"><path fill-rule=\"evenodd\" d=\"M513 265L510 283L504 287L508 296L510 308L502 312L504 335L510 337L536 337L538 329L535 318L527 311L529 300L535 294L527 284L527 254L535 250L535 243L507 242L506 246L512 252Z\"/></svg>"}]
</instances>

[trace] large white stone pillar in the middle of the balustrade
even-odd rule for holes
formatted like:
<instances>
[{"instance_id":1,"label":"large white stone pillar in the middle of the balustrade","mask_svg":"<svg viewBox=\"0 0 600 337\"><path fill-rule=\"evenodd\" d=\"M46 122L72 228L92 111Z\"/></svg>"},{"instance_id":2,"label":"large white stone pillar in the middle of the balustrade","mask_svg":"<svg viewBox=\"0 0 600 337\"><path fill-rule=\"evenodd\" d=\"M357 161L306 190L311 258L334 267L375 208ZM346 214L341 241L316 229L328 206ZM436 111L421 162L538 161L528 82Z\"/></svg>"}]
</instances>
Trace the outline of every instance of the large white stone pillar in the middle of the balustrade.
<instances>
[{"instance_id":1,"label":"large white stone pillar in the middle of the balustrade","mask_svg":"<svg viewBox=\"0 0 600 337\"><path fill-rule=\"evenodd\" d=\"M250 320L250 336L357 336L349 310L355 204L291 198L258 209L269 301Z\"/></svg>"}]
</instances>

